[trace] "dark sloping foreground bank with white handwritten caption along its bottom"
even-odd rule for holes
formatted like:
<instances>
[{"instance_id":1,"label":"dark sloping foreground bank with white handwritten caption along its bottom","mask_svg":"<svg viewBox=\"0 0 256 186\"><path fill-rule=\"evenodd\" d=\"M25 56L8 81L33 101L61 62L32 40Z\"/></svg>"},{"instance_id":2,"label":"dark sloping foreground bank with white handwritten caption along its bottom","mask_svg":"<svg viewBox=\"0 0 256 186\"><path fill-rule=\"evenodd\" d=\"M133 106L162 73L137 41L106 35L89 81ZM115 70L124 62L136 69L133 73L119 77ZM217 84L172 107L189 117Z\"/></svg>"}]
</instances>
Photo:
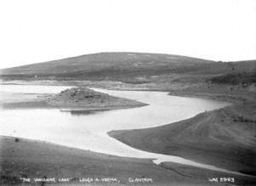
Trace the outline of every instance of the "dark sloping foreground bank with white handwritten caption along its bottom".
<instances>
[{"instance_id":1,"label":"dark sloping foreground bank with white handwritten caption along its bottom","mask_svg":"<svg viewBox=\"0 0 256 186\"><path fill-rule=\"evenodd\" d=\"M82 178L112 178L108 182L91 182L112 185L133 185L136 178L137 184L144 185L216 184L210 182L210 178L234 178L234 183L253 183L252 179L193 166L176 163L157 166L151 160L104 155L25 138L1 136L0 143L2 184L23 183L20 178L31 178L30 183L35 183L33 178L55 178L55 182L60 184L61 178L68 178L68 182L64 182L68 184L85 184L85 181L81 182ZM90 184L88 179L87 184Z\"/></svg>"}]
</instances>

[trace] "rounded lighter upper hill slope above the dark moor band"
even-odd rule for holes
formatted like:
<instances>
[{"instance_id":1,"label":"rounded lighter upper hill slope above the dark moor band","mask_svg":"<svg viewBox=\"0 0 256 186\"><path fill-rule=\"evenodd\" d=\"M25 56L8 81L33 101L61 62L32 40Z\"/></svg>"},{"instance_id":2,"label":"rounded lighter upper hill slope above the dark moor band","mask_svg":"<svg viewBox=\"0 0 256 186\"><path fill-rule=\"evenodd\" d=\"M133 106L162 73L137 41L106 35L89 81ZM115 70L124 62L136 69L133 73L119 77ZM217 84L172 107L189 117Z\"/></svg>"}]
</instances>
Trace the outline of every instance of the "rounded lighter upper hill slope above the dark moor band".
<instances>
[{"instance_id":1,"label":"rounded lighter upper hill slope above the dark moor band","mask_svg":"<svg viewBox=\"0 0 256 186\"><path fill-rule=\"evenodd\" d=\"M193 65L209 62L212 61L169 54L99 53L3 69L1 73L4 75L63 74L74 71L91 72L103 69L110 70L111 68L125 70L129 68L153 68L155 66Z\"/></svg>"}]
</instances>

